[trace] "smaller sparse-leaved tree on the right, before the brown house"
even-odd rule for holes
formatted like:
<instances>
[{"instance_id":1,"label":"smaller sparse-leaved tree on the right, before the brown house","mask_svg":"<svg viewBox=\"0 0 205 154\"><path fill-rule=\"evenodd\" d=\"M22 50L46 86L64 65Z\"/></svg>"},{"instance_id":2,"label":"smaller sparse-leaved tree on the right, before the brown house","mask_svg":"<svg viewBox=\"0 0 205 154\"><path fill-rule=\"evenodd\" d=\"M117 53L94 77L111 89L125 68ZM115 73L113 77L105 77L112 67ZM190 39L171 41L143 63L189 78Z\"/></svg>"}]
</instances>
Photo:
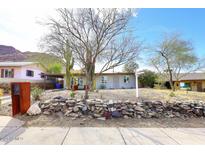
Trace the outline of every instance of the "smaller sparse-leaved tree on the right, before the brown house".
<instances>
[{"instance_id":1,"label":"smaller sparse-leaved tree on the right, before the brown house","mask_svg":"<svg viewBox=\"0 0 205 154\"><path fill-rule=\"evenodd\" d=\"M155 49L151 58L151 65L161 74L169 78L173 91L175 86L173 78L179 81L188 73L201 68L199 59L193 52L190 41L183 40L179 34L171 34L164 37Z\"/></svg>"}]
</instances>

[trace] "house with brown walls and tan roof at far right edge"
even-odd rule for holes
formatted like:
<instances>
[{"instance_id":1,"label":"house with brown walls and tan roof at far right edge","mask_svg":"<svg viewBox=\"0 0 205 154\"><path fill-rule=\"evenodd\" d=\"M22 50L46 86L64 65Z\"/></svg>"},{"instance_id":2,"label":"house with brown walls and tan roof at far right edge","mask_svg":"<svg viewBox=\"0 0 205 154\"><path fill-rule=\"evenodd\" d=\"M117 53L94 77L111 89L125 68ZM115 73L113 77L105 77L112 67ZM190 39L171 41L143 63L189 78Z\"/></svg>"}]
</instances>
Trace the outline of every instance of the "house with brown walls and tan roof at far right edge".
<instances>
[{"instance_id":1,"label":"house with brown walls and tan roof at far right edge","mask_svg":"<svg viewBox=\"0 0 205 154\"><path fill-rule=\"evenodd\" d=\"M179 81L174 79L174 83L180 89L205 92L205 73L184 74Z\"/></svg>"}]
</instances>

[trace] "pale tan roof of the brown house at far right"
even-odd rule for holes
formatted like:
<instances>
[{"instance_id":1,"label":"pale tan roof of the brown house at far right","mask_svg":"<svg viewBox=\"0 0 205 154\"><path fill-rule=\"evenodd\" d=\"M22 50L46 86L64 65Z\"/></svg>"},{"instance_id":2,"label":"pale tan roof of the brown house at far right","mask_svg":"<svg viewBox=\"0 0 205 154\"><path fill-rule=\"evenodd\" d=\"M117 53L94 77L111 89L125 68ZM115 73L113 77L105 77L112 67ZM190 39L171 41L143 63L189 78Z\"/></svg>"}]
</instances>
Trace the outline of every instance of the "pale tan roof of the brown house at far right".
<instances>
[{"instance_id":1,"label":"pale tan roof of the brown house at far right","mask_svg":"<svg viewBox=\"0 0 205 154\"><path fill-rule=\"evenodd\" d=\"M182 78L180 81L187 80L205 80L205 73L189 73L189 74L181 74ZM176 79L174 79L176 81Z\"/></svg>"}]
</instances>

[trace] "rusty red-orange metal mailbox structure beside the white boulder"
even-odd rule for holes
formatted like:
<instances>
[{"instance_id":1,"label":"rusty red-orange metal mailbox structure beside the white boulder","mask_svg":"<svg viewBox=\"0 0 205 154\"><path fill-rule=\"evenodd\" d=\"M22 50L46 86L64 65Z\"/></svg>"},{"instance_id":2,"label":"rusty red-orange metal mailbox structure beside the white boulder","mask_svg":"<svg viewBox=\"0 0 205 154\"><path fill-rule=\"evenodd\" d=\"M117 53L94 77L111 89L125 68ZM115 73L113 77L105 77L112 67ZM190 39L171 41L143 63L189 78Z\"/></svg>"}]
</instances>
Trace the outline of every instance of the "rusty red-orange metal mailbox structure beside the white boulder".
<instances>
[{"instance_id":1,"label":"rusty red-orange metal mailbox structure beside the white boulder","mask_svg":"<svg viewBox=\"0 0 205 154\"><path fill-rule=\"evenodd\" d=\"M24 114L30 107L30 82L11 83L12 115Z\"/></svg>"}]
</instances>

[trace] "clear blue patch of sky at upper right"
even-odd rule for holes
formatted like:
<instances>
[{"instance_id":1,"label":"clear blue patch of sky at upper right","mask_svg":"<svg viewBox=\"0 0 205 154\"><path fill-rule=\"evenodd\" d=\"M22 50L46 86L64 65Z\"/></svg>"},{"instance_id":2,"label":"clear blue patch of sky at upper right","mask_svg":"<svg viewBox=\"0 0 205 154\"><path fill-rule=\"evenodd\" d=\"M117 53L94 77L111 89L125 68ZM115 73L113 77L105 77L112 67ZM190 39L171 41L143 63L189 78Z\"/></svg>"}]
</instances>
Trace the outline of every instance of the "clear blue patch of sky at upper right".
<instances>
[{"instance_id":1,"label":"clear blue patch of sky at upper right","mask_svg":"<svg viewBox=\"0 0 205 154\"><path fill-rule=\"evenodd\" d=\"M205 9L140 9L131 25L136 26L136 35L151 46L163 33L179 32L192 41L199 57L205 57Z\"/></svg>"}]
</instances>

